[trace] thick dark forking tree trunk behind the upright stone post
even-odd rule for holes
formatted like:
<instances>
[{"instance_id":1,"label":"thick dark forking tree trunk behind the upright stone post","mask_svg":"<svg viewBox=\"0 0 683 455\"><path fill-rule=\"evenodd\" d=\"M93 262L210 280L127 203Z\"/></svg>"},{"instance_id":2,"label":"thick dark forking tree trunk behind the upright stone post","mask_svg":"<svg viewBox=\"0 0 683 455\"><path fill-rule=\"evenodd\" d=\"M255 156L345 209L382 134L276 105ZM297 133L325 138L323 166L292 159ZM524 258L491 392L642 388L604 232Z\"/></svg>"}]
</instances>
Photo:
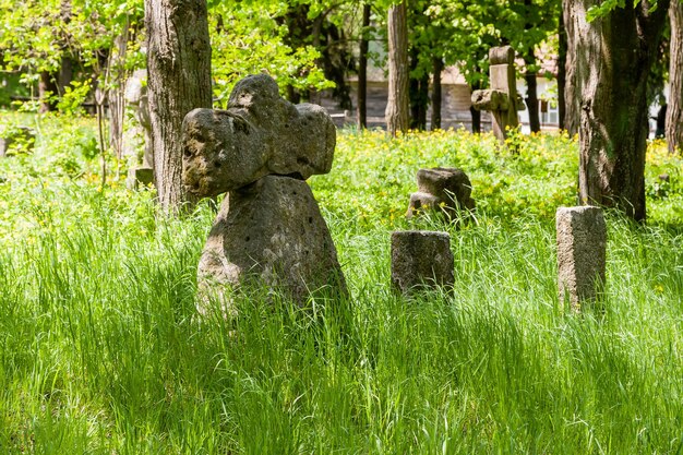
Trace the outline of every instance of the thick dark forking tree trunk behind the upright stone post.
<instances>
[{"instance_id":1,"label":"thick dark forking tree trunk behind the upright stone post","mask_svg":"<svg viewBox=\"0 0 683 455\"><path fill-rule=\"evenodd\" d=\"M586 11L596 3L568 2L568 53L576 62L575 105L580 106L579 197L643 221L646 86L669 1L660 0L655 12L644 2L626 2L588 23Z\"/></svg>"}]
</instances>

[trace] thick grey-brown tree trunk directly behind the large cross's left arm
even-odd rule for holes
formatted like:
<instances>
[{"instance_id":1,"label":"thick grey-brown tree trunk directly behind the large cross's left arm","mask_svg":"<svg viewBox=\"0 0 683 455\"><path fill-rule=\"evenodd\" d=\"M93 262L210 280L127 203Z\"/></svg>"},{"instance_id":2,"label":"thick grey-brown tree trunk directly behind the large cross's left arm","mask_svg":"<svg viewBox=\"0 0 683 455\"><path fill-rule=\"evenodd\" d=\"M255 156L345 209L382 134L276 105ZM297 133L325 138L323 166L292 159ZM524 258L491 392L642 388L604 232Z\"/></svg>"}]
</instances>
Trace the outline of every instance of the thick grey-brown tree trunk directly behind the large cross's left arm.
<instances>
[{"instance_id":1,"label":"thick grey-brown tree trunk directly behind the large cross's left arm","mask_svg":"<svg viewBox=\"0 0 683 455\"><path fill-rule=\"evenodd\" d=\"M192 202L181 181L182 120L212 107L206 0L145 1L145 26L154 180L163 209L177 214Z\"/></svg>"}]
</instances>

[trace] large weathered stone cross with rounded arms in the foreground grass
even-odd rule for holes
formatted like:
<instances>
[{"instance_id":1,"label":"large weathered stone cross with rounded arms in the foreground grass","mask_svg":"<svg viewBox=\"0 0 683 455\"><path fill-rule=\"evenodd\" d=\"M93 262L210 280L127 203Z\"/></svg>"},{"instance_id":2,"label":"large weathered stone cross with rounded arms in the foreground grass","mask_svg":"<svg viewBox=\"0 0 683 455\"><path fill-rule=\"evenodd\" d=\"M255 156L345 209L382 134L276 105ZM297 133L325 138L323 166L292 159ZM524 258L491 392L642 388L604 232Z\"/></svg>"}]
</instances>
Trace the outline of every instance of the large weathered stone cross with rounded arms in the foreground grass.
<instances>
[{"instance_id":1,"label":"large weathered stone cross with rounded arms in the foreground grass","mask_svg":"<svg viewBox=\"0 0 683 455\"><path fill-rule=\"evenodd\" d=\"M216 296L232 313L228 288L253 280L299 304L319 290L346 295L329 230L304 181L332 168L336 128L327 112L290 104L259 74L236 85L227 110L195 109L182 128L185 189L227 192L199 264L203 298Z\"/></svg>"}]
</instances>

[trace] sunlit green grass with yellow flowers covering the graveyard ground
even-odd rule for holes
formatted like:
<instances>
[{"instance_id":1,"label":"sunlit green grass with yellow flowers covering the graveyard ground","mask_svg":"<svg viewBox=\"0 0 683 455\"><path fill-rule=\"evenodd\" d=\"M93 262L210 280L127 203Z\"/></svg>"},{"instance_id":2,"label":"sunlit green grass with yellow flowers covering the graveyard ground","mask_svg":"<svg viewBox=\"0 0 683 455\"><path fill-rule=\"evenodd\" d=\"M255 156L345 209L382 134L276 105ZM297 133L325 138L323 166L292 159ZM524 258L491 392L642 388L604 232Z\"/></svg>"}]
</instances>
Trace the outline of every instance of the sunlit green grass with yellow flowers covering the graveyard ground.
<instances>
[{"instance_id":1,"label":"sunlit green grass with yellow flowers covering the graveyard ground","mask_svg":"<svg viewBox=\"0 0 683 455\"><path fill-rule=\"evenodd\" d=\"M0 161L0 453L683 453L683 163L662 144L648 226L608 214L603 313L558 306L572 140L515 136L515 157L489 136L347 132L310 183L351 310L254 295L227 323L194 310L208 205L169 220L151 191L98 188L89 125L43 120L33 155ZM470 176L477 224L403 218L439 165ZM391 291L404 228L451 232L452 291Z\"/></svg>"}]
</instances>

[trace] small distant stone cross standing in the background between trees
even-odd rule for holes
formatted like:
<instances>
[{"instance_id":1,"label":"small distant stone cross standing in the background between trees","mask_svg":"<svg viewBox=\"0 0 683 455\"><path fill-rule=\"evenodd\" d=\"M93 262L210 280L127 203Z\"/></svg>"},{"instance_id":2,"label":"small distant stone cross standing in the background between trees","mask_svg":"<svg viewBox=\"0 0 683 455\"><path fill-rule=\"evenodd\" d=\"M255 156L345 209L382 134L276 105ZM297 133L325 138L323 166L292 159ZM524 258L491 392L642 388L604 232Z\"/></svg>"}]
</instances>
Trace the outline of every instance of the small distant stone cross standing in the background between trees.
<instances>
[{"instance_id":1,"label":"small distant stone cross standing in the background between trees","mask_svg":"<svg viewBox=\"0 0 683 455\"><path fill-rule=\"evenodd\" d=\"M489 50L489 63L491 88L472 92L471 103L475 109L491 112L493 134L504 142L506 128L519 124L517 110L524 109L517 95L515 51L510 46L493 47Z\"/></svg>"}]
</instances>

